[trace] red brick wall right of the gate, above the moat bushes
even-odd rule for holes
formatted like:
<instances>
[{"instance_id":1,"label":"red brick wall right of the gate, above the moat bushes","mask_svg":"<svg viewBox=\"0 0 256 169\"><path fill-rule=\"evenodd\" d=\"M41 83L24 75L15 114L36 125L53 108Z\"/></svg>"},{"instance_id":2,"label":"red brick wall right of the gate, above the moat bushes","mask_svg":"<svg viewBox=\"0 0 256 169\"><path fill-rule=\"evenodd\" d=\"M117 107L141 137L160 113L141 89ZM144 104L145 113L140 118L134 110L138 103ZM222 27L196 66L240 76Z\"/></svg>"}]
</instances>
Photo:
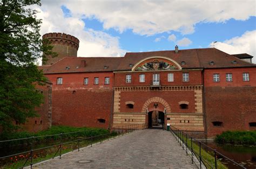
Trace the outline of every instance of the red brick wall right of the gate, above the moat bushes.
<instances>
[{"instance_id":1,"label":"red brick wall right of the gate, above the moat bushes","mask_svg":"<svg viewBox=\"0 0 256 169\"><path fill-rule=\"evenodd\" d=\"M256 122L256 87L206 87L205 108L207 136L213 137L227 130L256 130L249 127ZM213 126L213 121L223 122Z\"/></svg>"}]
</instances>

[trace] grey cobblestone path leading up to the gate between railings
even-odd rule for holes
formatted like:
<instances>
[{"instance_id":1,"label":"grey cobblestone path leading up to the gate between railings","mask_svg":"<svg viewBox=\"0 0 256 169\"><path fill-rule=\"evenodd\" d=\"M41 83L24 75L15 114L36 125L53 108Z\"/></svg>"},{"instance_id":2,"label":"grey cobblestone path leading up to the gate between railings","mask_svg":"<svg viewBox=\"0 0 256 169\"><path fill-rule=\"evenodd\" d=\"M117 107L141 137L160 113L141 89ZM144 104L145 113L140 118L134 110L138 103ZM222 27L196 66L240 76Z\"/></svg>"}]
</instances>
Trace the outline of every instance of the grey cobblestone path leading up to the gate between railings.
<instances>
[{"instance_id":1,"label":"grey cobblestone path leading up to the gate between railings","mask_svg":"<svg viewBox=\"0 0 256 169\"><path fill-rule=\"evenodd\" d=\"M89 163L88 163L89 162ZM197 168L172 134L138 130L35 168Z\"/></svg>"}]
</instances>

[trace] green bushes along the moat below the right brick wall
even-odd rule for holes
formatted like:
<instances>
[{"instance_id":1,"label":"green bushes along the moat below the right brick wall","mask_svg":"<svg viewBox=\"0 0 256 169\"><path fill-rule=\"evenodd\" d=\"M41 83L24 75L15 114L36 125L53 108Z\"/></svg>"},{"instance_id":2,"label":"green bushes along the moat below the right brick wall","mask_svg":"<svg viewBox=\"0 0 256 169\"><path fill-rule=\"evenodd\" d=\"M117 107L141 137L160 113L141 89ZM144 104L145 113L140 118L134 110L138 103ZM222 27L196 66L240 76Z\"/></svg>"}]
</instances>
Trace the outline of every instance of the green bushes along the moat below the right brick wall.
<instances>
[{"instance_id":1,"label":"green bushes along the moat below the right brick wall","mask_svg":"<svg viewBox=\"0 0 256 169\"><path fill-rule=\"evenodd\" d=\"M220 135L217 135L215 141L220 144L256 145L256 131L225 131Z\"/></svg>"}]
</instances>

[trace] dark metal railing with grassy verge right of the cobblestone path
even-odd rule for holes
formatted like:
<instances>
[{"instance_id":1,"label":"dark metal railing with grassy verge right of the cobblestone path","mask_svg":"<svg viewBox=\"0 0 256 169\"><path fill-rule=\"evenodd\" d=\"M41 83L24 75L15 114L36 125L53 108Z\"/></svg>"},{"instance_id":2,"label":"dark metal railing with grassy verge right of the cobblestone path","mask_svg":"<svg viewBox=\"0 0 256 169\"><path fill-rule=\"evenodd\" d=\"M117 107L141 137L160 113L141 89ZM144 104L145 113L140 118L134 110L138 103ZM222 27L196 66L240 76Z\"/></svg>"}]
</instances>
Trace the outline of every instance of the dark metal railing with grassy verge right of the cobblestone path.
<instances>
[{"instance_id":1,"label":"dark metal railing with grassy verge right of the cobblestone path","mask_svg":"<svg viewBox=\"0 0 256 169\"><path fill-rule=\"evenodd\" d=\"M191 157L191 163L196 164L198 168L225 168L224 164L220 163L220 159L229 161L228 165L232 165L232 168L246 168L202 141L189 137L184 131L174 126L170 126L170 129L180 146L186 151L186 155Z\"/></svg>"}]
</instances>

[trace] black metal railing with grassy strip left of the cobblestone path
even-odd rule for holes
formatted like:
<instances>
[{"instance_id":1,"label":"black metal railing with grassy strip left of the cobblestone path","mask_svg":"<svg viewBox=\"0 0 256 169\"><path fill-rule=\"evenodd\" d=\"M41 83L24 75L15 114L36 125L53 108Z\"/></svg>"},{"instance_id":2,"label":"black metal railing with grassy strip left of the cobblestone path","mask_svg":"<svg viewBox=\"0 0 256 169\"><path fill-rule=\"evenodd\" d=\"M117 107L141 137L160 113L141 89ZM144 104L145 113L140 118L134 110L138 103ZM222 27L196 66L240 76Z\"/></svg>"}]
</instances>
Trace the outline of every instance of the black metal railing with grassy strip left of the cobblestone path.
<instances>
[{"instance_id":1,"label":"black metal railing with grassy strip left of the cobblestone path","mask_svg":"<svg viewBox=\"0 0 256 169\"><path fill-rule=\"evenodd\" d=\"M10 166L14 163L17 164L17 168L23 168L32 166L36 163L39 163L44 160L49 160L52 158L59 157L59 159L62 157L63 154L71 152L71 151L79 151L80 148L85 146L92 146L94 143L102 143L103 140L109 140L109 138L115 138L116 136L119 136L120 134L130 133L134 130L139 129L139 124L136 125L126 125L126 126L120 126L120 130L118 132L116 131L116 128L112 128L107 133L102 133L97 135L96 131L99 132L99 130L85 130L85 131L76 131L76 132L69 132L69 133L60 133L60 134L51 134L47 136L38 136L38 137L29 137L29 138L21 138L21 139L11 139L11 140L2 140L0 141L0 144L8 143L12 141L23 141L23 143L26 143L26 147L28 147L30 150L10 154L8 156L0 157L0 168L4 166ZM122 129L122 130L121 130ZM66 139L64 136L66 134L74 134L74 133L80 133L80 132L86 132L83 136L78 136L75 139ZM36 144L38 142L36 139L42 139L45 137L57 137L57 141L49 146L42 146L42 147L36 147ZM57 143L56 143L57 142ZM21 146L21 145L16 145ZM13 147L12 147L13 148ZM43 152L43 153L42 153Z\"/></svg>"}]
</instances>

